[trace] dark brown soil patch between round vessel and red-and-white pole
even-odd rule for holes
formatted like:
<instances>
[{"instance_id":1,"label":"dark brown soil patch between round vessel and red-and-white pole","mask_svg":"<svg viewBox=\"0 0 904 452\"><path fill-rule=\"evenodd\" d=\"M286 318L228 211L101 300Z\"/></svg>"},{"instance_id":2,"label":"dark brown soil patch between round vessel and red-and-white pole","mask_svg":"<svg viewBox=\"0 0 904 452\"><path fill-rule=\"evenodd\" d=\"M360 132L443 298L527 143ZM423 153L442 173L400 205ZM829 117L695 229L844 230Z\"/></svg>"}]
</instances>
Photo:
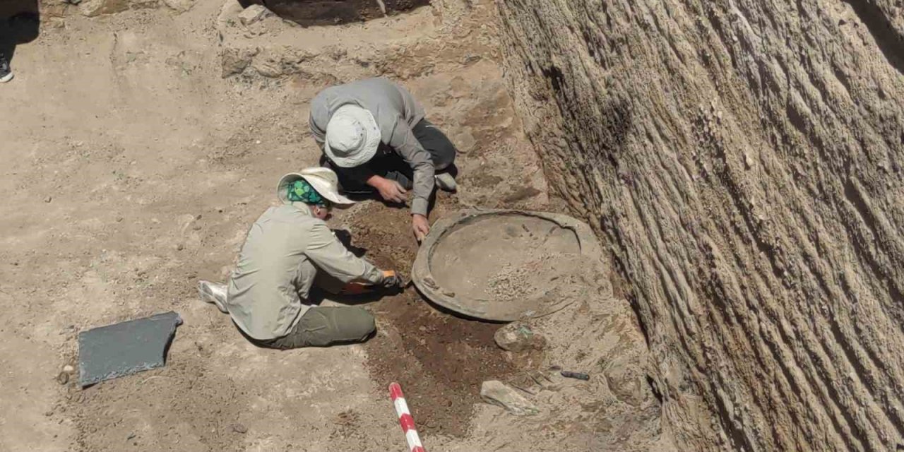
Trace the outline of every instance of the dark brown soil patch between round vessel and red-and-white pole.
<instances>
[{"instance_id":1,"label":"dark brown soil patch between round vessel and red-and-white pole","mask_svg":"<svg viewBox=\"0 0 904 452\"><path fill-rule=\"evenodd\" d=\"M493 341L500 325L438 313L409 289L373 307L383 334L364 348L373 381L398 381L419 429L465 437L480 384L517 369Z\"/></svg>"}]
</instances>

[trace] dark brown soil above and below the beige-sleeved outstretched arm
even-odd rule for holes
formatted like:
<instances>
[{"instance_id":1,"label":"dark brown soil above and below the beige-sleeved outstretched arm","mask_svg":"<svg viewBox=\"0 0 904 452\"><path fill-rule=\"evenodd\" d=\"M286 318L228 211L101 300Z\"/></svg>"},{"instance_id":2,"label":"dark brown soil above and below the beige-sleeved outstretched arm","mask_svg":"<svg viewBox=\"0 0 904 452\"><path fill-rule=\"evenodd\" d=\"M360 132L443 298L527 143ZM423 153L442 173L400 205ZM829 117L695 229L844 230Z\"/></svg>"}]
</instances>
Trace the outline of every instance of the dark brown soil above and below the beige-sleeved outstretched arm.
<instances>
[{"instance_id":1,"label":"dark brown soil above and below the beige-sleeved outstretched arm","mask_svg":"<svg viewBox=\"0 0 904 452\"><path fill-rule=\"evenodd\" d=\"M456 196L439 195L436 216L454 209ZM410 240L410 213L378 202L353 213L353 246L382 268L411 268L417 246ZM373 381L398 381L412 415L426 434L464 437L480 384L504 380L517 372L493 339L501 326L467 320L437 308L408 287L371 305L381 329L365 344Z\"/></svg>"}]
</instances>

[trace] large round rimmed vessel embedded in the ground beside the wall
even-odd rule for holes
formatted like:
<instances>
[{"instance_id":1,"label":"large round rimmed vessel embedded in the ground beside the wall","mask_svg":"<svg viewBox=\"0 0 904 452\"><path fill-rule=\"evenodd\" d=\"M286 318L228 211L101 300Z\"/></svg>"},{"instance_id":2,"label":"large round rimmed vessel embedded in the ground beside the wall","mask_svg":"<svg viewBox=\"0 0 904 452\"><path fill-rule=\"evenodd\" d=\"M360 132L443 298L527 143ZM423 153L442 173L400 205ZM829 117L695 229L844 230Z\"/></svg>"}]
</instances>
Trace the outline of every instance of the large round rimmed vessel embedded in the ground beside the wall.
<instances>
[{"instance_id":1,"label":"large round rimmed vessel embedded in the ground beside the wall","mask_svg":"<svg viewBox=\"0 0 904 452\"><path fill-rule=\"evenodd\" d=\"M544 212L466 210L437 221L412 279L438 306L510 322L551 314L588 284L600 249L587 224Z\"/></svg>"}]
</instances>

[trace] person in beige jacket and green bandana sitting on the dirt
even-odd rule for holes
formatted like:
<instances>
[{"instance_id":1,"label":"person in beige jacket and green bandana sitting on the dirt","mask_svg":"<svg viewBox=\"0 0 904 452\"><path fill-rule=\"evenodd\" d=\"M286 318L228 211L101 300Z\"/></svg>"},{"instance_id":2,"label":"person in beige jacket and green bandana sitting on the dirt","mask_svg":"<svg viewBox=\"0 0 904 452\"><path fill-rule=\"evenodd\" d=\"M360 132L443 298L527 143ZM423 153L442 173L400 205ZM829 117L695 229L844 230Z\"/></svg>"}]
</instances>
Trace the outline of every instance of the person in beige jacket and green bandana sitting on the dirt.
<instances>
[{"instance_id":1,"label":"person in beige jacket and green bandana sitting on the dirt","mask_svg":"<svg viewBox=\"0 0 904 452\"><path fill-rule=\"evenodd\" d=\"M349 283L400 287L384 272L355 257L327 227L333 204L351 204L338 192L336 174L307 168L278 184L283 202L255 221L228 286L199 283L202 299L229 313L253 344L278 349L363 342L375 330L361 307L310 306L317 286L340 293Z\"/></svg>"}]
</instances>

